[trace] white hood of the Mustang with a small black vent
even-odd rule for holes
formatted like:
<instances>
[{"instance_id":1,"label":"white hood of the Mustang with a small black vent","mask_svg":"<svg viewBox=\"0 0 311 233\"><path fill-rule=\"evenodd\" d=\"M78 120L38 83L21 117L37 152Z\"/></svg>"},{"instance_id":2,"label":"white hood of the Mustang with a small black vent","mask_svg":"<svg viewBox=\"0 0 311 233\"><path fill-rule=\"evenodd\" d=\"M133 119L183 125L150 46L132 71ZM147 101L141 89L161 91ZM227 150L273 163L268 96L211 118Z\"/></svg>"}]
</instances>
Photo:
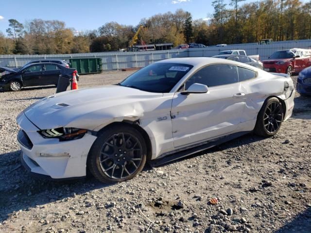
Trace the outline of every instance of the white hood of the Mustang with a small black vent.
<instances>
[{"instance_id":1,"label":"white hood of the Mustang with a small black vent","mask_svg":"<svg viewBox=\"0 0 311 233\"><path fill-rule=\"evenodd\" d=\"M139 117L148 106L151 107L148 100L154 102L162 96L162 93L107 85L46 97L25 109L24 114L39 129L76 127L94 130L106 121L118 121L118 117L122 118L120 121L126 117Z\"/></svg>"}]
</instances>

